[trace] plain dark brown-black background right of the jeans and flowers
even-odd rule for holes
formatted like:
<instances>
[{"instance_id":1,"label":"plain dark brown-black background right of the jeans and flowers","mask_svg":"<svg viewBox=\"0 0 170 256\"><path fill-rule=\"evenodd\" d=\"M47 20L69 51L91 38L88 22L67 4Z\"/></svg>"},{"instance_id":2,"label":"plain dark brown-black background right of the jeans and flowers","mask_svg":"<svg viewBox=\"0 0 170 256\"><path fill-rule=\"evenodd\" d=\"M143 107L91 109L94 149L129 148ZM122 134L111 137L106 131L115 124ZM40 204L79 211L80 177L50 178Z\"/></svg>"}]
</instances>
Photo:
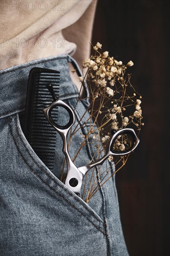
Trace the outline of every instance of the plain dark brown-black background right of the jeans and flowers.
<instances>
[{"instance_id":1,"label":"plain dark brown-black background right of the jeans and flowers","mask_svg":"<svg viewBox=\"0 0 170 256\"><path fill-rule=\"evenodd\" d=\"M134 62L131 83L143 96L140 145L116 175L131 256L170 253L169 16L168 0L98 0L94 22L92 43Z\"/></svg>"}]
</instances>

